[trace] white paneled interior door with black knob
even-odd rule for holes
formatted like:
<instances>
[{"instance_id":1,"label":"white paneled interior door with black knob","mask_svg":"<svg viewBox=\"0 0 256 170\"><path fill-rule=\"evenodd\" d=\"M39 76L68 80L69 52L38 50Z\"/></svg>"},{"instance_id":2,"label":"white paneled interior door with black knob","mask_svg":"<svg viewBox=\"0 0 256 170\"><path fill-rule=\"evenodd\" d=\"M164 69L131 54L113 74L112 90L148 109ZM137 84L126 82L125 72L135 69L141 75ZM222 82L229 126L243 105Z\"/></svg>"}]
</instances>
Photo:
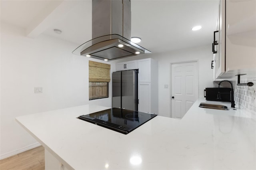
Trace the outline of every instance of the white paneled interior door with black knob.
<instances>
[{"instance_id":1,"label":"white paneled interior door with black knob","mask_svg":"<svg viewBox=\"0 0 256 170\"><path fill-rule=\"evenodd\" d=\"M198 64L196 61L171 64L171 68L171 115L182 119L198 99Z\"/></svg>"}]
</instances>

